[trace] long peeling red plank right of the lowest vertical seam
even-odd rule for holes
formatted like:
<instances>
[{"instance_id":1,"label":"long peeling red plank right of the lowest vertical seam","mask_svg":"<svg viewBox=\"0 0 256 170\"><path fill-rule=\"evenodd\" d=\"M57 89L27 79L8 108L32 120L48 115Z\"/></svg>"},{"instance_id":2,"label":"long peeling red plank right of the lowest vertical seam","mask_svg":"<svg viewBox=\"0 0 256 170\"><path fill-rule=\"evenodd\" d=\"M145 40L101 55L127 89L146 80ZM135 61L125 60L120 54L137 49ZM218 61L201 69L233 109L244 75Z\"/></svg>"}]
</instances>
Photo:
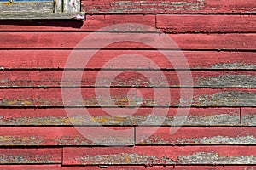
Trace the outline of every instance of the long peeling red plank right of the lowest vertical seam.
<instances>
[{"instance_id":1,"label":"long peeling red plank right of the lowest vertical seam","mask_svg":"<svg viewBox=\"0 0 256 170\"><path fill-rule=\"evenodd\" d=\"M63 165L255 164L254 146L65 148Z\"/></svg>"}]
</instances>

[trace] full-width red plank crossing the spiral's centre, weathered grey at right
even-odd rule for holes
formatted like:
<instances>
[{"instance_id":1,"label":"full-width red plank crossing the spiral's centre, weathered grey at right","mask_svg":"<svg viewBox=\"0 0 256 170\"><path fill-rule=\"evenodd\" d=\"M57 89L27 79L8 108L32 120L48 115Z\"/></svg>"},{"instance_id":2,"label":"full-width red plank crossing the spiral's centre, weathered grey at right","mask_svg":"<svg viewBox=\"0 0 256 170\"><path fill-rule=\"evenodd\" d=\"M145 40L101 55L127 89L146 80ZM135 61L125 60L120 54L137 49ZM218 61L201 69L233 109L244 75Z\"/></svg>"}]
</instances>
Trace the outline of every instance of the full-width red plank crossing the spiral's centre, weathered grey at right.
<instances>
[{"instance_id":1,"label":"full-width red plank crossing the spiral's centre, weathered grey at right","mask_svg":"<svg viewBox=\"0 0 256 170\"><path fill-rule=\"evenodd\" d=\"M0 106L63 106L62 97L65 99L65 106L76 107L189 106L189 95L192 93L192 106L256 106L256 89L183 88L181 91L175 88L82 88L81 92L79 88L62 90L0 89Z\"/></svg>"}]
</instances>

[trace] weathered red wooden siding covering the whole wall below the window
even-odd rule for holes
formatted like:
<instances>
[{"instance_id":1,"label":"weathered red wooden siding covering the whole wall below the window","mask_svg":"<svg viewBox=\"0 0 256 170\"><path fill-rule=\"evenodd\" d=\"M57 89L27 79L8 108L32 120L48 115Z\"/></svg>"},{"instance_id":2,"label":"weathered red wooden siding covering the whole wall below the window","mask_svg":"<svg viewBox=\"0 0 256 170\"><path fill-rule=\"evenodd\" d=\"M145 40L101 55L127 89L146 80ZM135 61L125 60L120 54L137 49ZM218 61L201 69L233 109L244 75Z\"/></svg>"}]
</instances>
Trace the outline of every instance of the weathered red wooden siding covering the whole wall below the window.
<instances>
[{"instance_id":1,"label":"weathered red wooden siding covering the whole wall below the window","mask_svg":"<svg viewBox=\"0 0 256 170\"><path fill-rule=\"evenodd\" d=\"M84 22L0 20L0 169L256 169L255 0L82 0L82 10ZM161 31L189 67L129 41L102 48L85 68L65 66L73 50L96 48L74 49L84 37L123 23L97 41ZM108 62L123 54L152 63L137 55ZM81 80L62 82L65 69L84 71ZM181 83L188 73L193 83ZM81 103L63 101L61 90L72 97L79 88Z\"/></svg>"}]
</instances>

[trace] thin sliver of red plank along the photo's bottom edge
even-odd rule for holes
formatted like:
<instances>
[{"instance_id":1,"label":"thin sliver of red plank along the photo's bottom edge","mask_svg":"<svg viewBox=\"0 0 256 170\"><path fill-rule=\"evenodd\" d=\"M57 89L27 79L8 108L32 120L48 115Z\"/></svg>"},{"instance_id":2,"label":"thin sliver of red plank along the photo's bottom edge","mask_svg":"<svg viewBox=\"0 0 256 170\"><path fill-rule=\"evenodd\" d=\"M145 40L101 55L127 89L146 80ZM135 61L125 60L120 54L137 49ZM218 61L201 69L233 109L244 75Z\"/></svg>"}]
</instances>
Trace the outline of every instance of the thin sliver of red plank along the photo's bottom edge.
<instances>
[{"instance_id":1,"label":"thin sliver of red plank along the photo's bottom edge","mask_svg":"<svg viewBox=\"0 0 256 170\"><path fill-rule=\"evenodd\" d=\"M17 170L34 170L34 169L44 169L44 170L54 170L54 169L70 169L70 167L65 167L61 165L0 165L1 169L5 169L5 170L13 170L13 169L17 169ZM108 168L110 170L114 170L114 169L121 169L121 170L145 170L144 166L73 166L73 169L78 169L78 170L84 170L84 168L89 168L92 170L99 170L102 168ZM149 167L148 167L149 168ZM253 168L255 168L255 166L154 166L152 167L155 170L164 170L166 168L170 168L170 169L174 169L174 170L186 170L186 169L191 169L191 170L205 170L205 169L211 169L211 170L253 170Z\"/></svg>"}]
</instances>

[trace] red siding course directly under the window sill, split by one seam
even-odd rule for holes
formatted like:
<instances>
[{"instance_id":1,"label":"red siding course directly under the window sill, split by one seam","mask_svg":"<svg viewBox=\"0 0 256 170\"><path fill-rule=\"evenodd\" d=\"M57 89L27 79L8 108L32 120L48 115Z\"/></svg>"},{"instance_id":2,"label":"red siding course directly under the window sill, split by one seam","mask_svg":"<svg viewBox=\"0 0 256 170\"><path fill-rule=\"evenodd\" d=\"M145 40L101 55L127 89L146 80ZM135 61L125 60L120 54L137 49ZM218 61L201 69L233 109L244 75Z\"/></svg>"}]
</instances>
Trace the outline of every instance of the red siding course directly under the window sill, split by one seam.
<instances>
[{"instance_id":1,"label":"red siding course directly under the window sill, split by one seam","mask_svg":"<svg viewBox=\"0 0 256 170\"><path fill-rule=\"evenodd\" d=\"M125 20L124 20L125 18ZM184 32L255 32L255 15L221 14L158 14L156 27L160 31L172 33ZM72 20L14 20L9 23L0 20L0 31L96 31L105 26L123 23L137 23L155 28L155 15L119 14L86 15L84 22ZM117 27L108 31L148 31L134 24Z\"/></svg>"}]
</instances>

